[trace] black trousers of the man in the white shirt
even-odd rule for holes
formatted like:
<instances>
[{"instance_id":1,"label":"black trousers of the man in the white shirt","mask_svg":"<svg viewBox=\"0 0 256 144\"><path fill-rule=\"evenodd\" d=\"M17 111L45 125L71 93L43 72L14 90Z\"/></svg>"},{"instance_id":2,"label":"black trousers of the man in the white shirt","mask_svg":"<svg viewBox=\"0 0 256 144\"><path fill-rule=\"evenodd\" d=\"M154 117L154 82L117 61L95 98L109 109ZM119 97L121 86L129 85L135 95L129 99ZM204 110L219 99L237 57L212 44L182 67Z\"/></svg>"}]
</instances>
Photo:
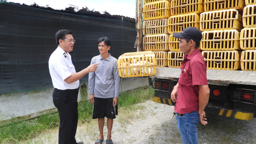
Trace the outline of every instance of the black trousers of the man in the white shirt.
<instances>
[{"instance_id":1,"label":"black trousers of the man in the white shirt","mask_svg":"<svg viewBox=\"0 0 256 144\"><path fill-rule=\"evenodd\" d=\"M52 95L53 103L59 111L59 144L76 144L79 88L72 90L62 91L55 88Z\"/></svg>"}]
</instances>

